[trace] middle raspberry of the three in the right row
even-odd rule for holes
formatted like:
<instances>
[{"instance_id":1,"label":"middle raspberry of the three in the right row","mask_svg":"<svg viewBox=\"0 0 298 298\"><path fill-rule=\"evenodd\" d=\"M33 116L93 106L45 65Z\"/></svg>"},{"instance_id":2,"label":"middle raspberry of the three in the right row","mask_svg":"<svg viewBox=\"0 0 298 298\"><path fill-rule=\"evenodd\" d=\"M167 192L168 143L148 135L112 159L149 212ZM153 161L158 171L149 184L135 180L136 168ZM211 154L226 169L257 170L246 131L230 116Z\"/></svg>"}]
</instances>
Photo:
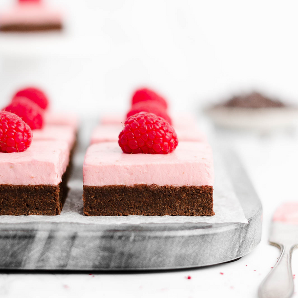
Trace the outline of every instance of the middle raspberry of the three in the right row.
<instances>
[{"instance_id":1,"label":"middle raspberry of the three in the right row","mask_svg":"<svg viewBox=\"0 0 298 298\"><path fill-rule=\"evenodd\" d=\"M169 124L172 124L172 120L170 116L166 113L163 107L161 107L158 103L154 101L140 101L134 104L131 110L127 113L126 118L138 114L140 112L148 112L155 114L166 120Z\"/></svg>"}]
</instances>

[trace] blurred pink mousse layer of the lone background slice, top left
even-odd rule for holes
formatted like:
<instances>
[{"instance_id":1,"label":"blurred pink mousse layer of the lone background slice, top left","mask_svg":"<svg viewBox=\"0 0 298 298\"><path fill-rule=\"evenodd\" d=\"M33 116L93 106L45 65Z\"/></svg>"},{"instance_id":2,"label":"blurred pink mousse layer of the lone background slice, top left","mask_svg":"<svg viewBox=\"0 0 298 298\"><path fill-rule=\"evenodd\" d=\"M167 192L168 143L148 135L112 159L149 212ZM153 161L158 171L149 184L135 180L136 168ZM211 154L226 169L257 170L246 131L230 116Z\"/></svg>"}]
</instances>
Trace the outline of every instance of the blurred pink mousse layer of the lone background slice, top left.
<instances>
[{"instance_id":1,"label":"blurred pink mousse layer of the lone background slice, top left","mask_svg":"<svg viewBox=\"0 0 298 298\"><path fill-rule=\"evenodd\" d=\"M59 11L37 3L21 3L0 13L0 25L61 23Z\"/></svg>"}]
</instances>

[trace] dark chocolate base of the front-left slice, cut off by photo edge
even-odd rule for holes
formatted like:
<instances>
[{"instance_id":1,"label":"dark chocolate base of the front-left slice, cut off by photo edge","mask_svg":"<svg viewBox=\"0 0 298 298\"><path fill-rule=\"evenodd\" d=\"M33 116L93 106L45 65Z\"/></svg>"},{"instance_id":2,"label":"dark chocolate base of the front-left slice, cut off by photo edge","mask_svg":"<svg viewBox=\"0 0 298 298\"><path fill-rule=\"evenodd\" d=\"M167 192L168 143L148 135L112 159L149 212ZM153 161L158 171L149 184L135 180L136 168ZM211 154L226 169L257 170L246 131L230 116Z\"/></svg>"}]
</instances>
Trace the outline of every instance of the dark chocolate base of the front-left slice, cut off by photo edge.
<instances>
[{"instance_id":1,"label":"dark chocolate base of the front-left slice, cut off by photo edge","mask_svg":"<svg viewBox=\"0 0 298 298\"><path fill-rule=\"evenodd\" d=\"M0 215L58 215L65 203L69 168L58 185L0 184Z\"/></svg>"}]
</instances>

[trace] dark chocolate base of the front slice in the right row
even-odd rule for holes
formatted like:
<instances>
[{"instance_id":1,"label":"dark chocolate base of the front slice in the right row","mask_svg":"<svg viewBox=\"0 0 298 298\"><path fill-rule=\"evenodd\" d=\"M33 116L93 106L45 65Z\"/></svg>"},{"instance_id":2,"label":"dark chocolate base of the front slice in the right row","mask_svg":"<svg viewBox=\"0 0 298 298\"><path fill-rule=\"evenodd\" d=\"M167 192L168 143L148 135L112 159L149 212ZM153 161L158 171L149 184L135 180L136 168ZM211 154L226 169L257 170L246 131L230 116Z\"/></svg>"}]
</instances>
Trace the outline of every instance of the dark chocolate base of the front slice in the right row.
<instances>
[{"instance_id":1,"label":"dark chocolate base of the front slice in the right row","mask_svg":"<svg viewBox=\"0 0 298 298\"><path fill-rule=\"evenodd\" d=\"M212 186L84 186L87 216L213 216Z\"/></svg>"}]
</instances>

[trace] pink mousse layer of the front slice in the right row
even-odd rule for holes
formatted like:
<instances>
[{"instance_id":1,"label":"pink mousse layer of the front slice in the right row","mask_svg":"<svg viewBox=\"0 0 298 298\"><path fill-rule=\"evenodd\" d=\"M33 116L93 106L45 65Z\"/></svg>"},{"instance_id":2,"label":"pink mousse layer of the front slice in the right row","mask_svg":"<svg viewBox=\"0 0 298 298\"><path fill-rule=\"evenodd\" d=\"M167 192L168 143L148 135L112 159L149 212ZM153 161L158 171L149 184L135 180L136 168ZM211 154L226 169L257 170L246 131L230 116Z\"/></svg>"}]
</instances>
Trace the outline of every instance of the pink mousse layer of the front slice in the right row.
<instances>
[{"instance_id":1,"label":"pink mousse layer of the front slice in the right row","mask_svg":"<svg viewBox=\"0 0 298 298\"><path fill-rule=\"evenodd\" d=\"M83 165L89 186L214 184L212 149L201 142L180 142L170 154L126 154L116 142L91 145Z\"/></svg>"}]
</instances>

